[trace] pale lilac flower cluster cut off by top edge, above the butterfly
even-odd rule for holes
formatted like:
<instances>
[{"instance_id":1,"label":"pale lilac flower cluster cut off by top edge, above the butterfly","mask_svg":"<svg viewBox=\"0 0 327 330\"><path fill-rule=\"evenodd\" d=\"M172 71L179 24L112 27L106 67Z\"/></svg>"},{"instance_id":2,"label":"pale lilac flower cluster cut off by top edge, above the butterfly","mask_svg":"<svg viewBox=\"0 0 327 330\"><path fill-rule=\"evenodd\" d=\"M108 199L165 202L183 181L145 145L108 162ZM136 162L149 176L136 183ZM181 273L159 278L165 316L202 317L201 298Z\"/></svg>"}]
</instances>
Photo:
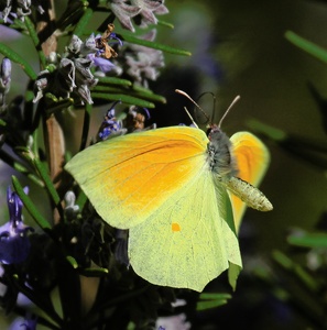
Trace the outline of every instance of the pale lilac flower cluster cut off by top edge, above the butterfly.
<instances>
[{"instance_id":1,"label":"pale lilac flower cluster cut off by top edge, above the butterfly","mask_svg":"<svg viewBox=\"0 0 327 330\"><path fill-rule=\"evenodd\" d=\"M134 26L131 19L134 19L141 28L146 28L149 24L157 23L155 14L168 12L163 0L111 0L109 7L121 25L132 32Z\"/></svg>"}]
</instances>

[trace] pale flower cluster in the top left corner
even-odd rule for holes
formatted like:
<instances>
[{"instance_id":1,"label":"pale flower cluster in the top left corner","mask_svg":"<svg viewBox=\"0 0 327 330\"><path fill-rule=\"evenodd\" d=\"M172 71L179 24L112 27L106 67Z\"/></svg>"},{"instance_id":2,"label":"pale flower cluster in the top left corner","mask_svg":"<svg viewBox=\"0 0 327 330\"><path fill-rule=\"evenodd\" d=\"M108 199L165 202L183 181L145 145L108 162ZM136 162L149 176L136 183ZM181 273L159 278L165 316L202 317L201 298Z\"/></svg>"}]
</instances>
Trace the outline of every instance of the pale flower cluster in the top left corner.
<instances>
[{"instance_id":1,"label":"pale flower cluster in the top left corner","mask_svg":"<svg viewBox=\"0 0 327 330\"><path fill-rule=\"evenodd\" d=\"M41 14L44 13L41 1L32 0L0 0L0 18L4 23L11 22L9 15L13 19L20 19L24 21L24 16L32 13L32 8L34 7Z\"/></svg>"}]
</instances>

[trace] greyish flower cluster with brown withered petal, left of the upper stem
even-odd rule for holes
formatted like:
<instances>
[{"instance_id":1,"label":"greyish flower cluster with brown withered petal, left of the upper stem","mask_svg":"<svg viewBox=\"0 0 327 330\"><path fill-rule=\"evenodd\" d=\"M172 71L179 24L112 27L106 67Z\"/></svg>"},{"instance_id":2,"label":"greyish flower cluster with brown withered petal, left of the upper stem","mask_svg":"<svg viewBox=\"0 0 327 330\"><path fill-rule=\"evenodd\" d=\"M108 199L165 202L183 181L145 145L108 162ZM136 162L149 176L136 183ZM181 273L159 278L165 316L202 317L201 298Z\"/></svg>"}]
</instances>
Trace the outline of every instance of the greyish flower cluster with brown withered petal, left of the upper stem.
<instances>
[{"instance_id":1,"label":"greyish flower cluster with brown withered petal, left of the upper stem","mask_svg":"<svg viewBox=\"0 0 327 330\"><path fill-rule=\"evenodd\" d=\"M75 105L91 105L90 88L98 84L98 79L90 68L96 66L105 73L109 72L113 66L109 58L117 56L109 41L118 40L121 44L112 33L113 29L113 24L109 24L102 35L91 34L85 42L73 35L63 57L59 59L53 54L50 57L52 65L39 74L34 85L34 102L51 91L56 98L73 97Z\"/></svg>"}]
</instances>

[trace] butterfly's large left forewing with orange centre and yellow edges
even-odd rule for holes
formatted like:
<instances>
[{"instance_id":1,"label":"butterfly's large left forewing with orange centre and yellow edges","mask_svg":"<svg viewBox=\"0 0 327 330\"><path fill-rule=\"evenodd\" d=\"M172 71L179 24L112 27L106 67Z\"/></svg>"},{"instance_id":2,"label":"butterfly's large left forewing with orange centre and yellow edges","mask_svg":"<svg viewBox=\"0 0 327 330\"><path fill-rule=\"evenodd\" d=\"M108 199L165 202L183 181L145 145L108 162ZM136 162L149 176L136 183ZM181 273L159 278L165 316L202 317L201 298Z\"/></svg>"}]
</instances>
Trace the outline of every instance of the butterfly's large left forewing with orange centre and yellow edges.
<instances>
[{"instance_id":1,"label":"butterfly's large left forewing with orange centre and yellow edges","mask_svg":"<svg viewBox=\"0 0 327 330\"><path fill-rule=\"evenodd\" d=\"M166 128L97 143L65 168L97 212L116 228L144 221L194 175L208 140L193 128Z\"/></svg>"}]
</instances>

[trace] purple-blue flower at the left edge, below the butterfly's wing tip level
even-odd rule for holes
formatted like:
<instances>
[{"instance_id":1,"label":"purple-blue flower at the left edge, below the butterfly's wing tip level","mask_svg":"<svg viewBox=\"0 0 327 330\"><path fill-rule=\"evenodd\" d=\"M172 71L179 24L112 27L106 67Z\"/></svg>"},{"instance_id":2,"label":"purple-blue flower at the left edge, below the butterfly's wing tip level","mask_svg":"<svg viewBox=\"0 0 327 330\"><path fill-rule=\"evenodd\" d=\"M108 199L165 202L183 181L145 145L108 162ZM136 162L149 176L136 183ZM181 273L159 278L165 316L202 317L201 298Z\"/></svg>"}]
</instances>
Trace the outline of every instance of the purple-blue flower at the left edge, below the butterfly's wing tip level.
<instances>
[{"instance_id":1,"label":"purple-blue flower at the left edge, below the butterfly's wing tip level","mask_svg":"<svg viewBox=\"0 0 327 330\"><path fill-rule=\"evenodd\" d=\"M28 187L24 188L24 191L28 194ZM7 202L10 219L0 227L0 262L18 264L29 256L31 243L28 232L33 229L23 223L23 204L19 196L11 191L10 187L7 190Z\"/></svg>"}]
</instances>

